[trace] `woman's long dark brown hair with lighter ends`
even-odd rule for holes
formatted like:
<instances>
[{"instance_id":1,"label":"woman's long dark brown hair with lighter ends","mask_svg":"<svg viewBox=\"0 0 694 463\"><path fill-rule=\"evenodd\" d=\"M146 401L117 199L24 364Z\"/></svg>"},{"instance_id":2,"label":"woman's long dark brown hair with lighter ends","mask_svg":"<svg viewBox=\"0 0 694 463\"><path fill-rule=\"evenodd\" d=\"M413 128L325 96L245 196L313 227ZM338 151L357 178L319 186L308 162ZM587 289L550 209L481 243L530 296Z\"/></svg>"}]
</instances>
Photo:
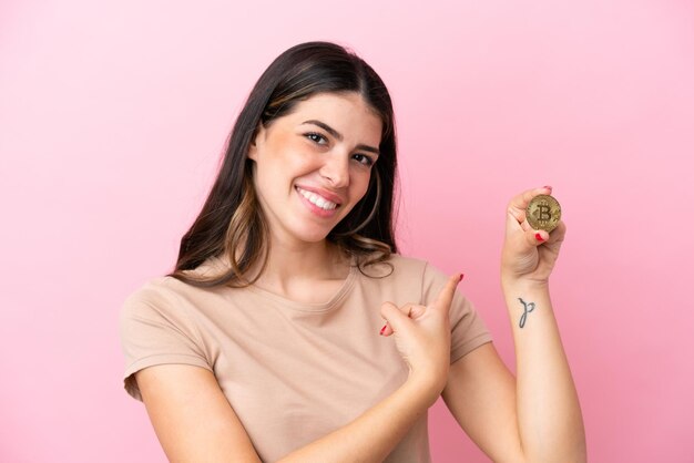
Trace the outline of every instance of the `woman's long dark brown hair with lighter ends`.
<instances>
[{"instance_id":1,"label":"woman's long dark brown hair with lighter ends","mask_svg":"<svg viewBox=\"0 0 694 463\"><path fill-rule=\"evenodd\" d=\"M357 92L380 116L379 158L364 198L328 234L327 239L356 257L359 269L397 253L394 234L396 134L392 102L386 85L363 59L329 42L307 42L282 53L257 81L228 137L222 167L205 204L181 239L170 276L198 287L245 286L247 270L267 261L268 226L256 198L248 148L259 124L287 115L317 93ZM225 256L223 275L194 277L210 257ZM257 274L259 275L259 274ZM257 278L257 276L256 276Z\"/></svg>"}]
</instances>

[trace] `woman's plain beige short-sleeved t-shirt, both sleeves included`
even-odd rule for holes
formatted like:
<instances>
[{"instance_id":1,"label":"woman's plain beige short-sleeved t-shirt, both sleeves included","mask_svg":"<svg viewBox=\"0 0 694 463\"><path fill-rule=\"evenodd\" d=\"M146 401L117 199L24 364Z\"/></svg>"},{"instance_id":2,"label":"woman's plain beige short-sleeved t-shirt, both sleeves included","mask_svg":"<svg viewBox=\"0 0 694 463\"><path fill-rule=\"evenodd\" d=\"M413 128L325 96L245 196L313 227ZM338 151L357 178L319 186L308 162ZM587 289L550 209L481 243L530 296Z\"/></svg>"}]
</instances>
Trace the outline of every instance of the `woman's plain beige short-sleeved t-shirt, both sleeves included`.
<instances>
[{"instance_id":1,"label":"woman's plain beige short-sleeved t-shirt, both sleeves included","mask_svg":"<svg viewBox=\"0 0 694 463\"><path fill-rule=\"evenodd\" d=\"M422 260L394 255L389 261L390 275L384 265L368 267L381 278L353 267L325 303L299 303L254 286L202 289L154 278L121 311L125 390L142 400L133 373L146 367L206 368L261 459L276 461L353 421L407 379L395 339L379 336L380 305L429 303L447 276ZM491 341L459 291L451 331L451 363ZM386 461L430 462L426 414Z\"/></svg>"}]
</instances>

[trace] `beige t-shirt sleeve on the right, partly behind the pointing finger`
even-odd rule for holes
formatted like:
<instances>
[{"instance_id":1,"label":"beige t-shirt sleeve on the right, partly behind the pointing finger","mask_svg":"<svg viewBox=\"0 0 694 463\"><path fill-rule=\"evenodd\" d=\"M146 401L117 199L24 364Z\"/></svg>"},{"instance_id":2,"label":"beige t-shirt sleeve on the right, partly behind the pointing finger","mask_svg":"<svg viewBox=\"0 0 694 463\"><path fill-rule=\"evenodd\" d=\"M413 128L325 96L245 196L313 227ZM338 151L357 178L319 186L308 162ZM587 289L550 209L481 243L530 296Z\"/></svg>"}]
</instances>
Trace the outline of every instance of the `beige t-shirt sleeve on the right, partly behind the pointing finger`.
<instances>
[{"instance_id":1,"label":"beige t-shirt sleeve on the right, partly behind the pointing finger","mask_svg":"<svg viewBox=\"0 0 694 463\"><path fill-rule=\"evenodd\" d=\"M422 278L422 303L432 302L448 280L448 276L427 263ZM492 341L487 325L472 302L458 289L450 308L451 346L450 362L463 357L476 348Z\"/></svg>"}]
</instances>

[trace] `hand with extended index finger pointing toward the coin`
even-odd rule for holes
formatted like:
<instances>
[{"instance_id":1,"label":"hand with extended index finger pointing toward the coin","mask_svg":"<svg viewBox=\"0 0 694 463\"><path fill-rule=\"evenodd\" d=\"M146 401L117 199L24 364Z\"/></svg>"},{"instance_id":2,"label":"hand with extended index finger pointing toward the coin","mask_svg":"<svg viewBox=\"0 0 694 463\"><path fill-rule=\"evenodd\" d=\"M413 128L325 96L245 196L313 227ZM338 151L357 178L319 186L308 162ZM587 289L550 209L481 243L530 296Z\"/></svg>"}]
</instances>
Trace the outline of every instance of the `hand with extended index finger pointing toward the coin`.
<instances>
[{"instance_id":1,"label":"hand with extended index finger pointing toward the coin","mask_svg":"<svg viewBox=\"0 0 694 463\"><path fill-rule=\"evenodd\" d=\"M417 382L436 401L446 385L450 368L450 306L462 275L451 276L429 306L392 302L381 305L387 321L382 336L395 335L395 342L410 369L408 381Z\"/></svg>"}]
</instances>

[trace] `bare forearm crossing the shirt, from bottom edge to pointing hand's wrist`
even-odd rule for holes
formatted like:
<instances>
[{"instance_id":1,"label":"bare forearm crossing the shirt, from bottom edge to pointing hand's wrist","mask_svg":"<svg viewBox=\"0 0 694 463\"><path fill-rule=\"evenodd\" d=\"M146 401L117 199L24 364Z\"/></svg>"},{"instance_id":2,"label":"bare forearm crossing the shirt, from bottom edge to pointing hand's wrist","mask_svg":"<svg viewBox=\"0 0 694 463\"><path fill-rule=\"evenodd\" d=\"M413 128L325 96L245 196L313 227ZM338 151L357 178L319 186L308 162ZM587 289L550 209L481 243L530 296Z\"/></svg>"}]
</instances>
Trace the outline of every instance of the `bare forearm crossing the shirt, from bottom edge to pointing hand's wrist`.
<instances>
[{"instance_id":1,"label":"bare forearm crossing the shirt, from bottom edge to pointing hand's wrist","mask_svg":"<svg viewBox=\"0 0 694 463\"><path fill-rule=\"evenodd\" d=\"M437 397L430 385L409 379L350 423L279 462L381 462Z\"/></svg>"}]
</instances>

